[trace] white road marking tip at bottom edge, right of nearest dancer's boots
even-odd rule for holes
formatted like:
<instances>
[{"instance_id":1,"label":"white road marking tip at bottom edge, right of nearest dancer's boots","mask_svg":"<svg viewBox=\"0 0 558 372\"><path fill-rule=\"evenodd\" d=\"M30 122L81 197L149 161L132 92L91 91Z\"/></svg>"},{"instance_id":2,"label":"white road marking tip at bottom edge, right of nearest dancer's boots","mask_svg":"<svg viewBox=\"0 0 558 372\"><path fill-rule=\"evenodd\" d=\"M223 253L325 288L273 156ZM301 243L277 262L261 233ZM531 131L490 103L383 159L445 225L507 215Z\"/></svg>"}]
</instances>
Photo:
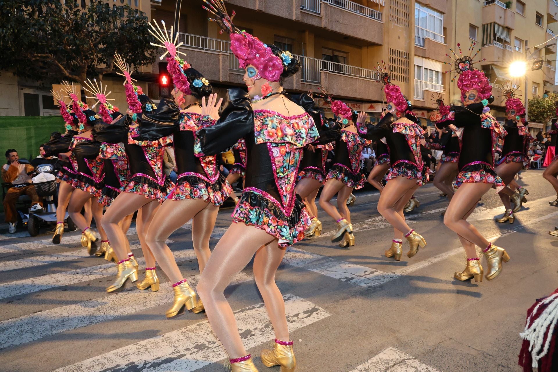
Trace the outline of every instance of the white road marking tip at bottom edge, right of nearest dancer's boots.
<instances>
[{"instance_id":1,"label":"white road marking tip at bottom edge, right of nearest dancer's boots","mask_svg":"<svg viewBox=\"0 0 558 372\"><path fill-rule=\"evenodd\" d=\"M411 355L389 347L349 372L440 372Z\"/></svg>"}]
</instances>

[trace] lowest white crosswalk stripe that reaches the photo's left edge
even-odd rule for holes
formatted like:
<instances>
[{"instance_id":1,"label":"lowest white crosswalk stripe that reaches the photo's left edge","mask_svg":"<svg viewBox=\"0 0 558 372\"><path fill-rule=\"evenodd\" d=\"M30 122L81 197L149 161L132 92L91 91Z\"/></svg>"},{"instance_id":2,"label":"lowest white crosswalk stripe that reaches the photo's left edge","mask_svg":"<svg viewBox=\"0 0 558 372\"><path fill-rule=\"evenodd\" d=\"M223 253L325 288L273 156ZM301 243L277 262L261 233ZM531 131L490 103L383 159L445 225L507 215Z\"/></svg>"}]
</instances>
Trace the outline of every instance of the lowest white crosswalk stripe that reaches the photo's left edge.
<instances>
[{"instance_id":1,"label":"lowest white crosswalk stripe that reaches the photo's left edge","mask_svg":"<svg viewBox=\"0 0 558 372\"><path fill-rule=\"evenodd\" d=\"M187 279L195 289L199 275ZM231 285L251 280L251 276L241 272ZM140 291L135 284L128 284L133 287L121 293L4 320L0 322L0 350L171 303L174 292L170 283L166 284L157 293L149 289Z\"/></svg>"}]
</instances>

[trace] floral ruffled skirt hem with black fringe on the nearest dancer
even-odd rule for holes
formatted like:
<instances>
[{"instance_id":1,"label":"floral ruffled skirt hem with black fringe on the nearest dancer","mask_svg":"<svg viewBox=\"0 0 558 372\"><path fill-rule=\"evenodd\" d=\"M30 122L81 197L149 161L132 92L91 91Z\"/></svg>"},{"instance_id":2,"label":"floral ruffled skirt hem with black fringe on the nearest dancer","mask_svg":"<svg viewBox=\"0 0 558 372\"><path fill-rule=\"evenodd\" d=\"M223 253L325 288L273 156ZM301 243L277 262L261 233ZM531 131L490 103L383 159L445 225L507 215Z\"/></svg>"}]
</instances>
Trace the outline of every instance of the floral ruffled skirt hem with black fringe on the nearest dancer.
<instances>
[{"instance_id":1,"label":"floral ruffled skirt hem with black fringe on the nearest dancer","mask_svg":"<svg viewBox=\"0 0 558 372\"><path fill-rule=\"evenodd\" d=\"M304 201L298 194L295 196L294 209L287 216L280 202L270 194L247 187L233 211L233 221L265 230L279 239L280 247L288 247L304 239L304 231L311 224Z\"/></svg>"}]
</instances>

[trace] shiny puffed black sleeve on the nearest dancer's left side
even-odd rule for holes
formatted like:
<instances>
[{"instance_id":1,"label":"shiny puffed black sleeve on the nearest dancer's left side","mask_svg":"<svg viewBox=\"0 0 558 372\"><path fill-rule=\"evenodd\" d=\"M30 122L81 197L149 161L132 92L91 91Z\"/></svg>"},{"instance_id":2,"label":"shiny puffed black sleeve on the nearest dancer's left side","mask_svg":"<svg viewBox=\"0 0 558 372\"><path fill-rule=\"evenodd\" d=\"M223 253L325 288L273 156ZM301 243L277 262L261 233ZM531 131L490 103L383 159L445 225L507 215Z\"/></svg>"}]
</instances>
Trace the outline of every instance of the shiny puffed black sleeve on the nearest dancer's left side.
<instances>
[{"instance_id":1,"label":"shiny puffed black sleeve on the nearest dancer's left side","mask_svg":"<svg viewBox=\"0 0 558 372\"><path fill-rule=\"evenodd\" d=\"M216 155L227 151L240 138L253 131L254 112L250 96L240 88L229 89L219 120L196 131L196 139L200 144L197 152Z\"/></svg>"}]
</instances>

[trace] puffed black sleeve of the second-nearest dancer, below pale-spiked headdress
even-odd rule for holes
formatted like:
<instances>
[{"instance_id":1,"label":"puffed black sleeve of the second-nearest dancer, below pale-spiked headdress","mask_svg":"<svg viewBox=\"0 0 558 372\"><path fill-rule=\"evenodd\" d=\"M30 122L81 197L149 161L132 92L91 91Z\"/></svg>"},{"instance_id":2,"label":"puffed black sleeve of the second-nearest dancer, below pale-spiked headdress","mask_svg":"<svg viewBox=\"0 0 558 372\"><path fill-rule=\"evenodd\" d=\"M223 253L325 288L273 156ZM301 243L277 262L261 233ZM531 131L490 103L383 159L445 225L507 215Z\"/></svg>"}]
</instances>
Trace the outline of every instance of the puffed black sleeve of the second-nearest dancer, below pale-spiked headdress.
<instances>
[{"instance_id":1,"label":"puffed black sleeve of the second-nearest dancer, below pale-spiked headdress","mask_svg":"<svg viewBox=\"0 0 558 372\"><path fill-rule=\"evenodd\" d=\"M168 137L179 129L180 108L174 100L165 98L161 100L153 113L144 112L141 120L138 120L138 133L134 139L138 141L157 141L157 139Z\"/></svg>"}]
</instances>

